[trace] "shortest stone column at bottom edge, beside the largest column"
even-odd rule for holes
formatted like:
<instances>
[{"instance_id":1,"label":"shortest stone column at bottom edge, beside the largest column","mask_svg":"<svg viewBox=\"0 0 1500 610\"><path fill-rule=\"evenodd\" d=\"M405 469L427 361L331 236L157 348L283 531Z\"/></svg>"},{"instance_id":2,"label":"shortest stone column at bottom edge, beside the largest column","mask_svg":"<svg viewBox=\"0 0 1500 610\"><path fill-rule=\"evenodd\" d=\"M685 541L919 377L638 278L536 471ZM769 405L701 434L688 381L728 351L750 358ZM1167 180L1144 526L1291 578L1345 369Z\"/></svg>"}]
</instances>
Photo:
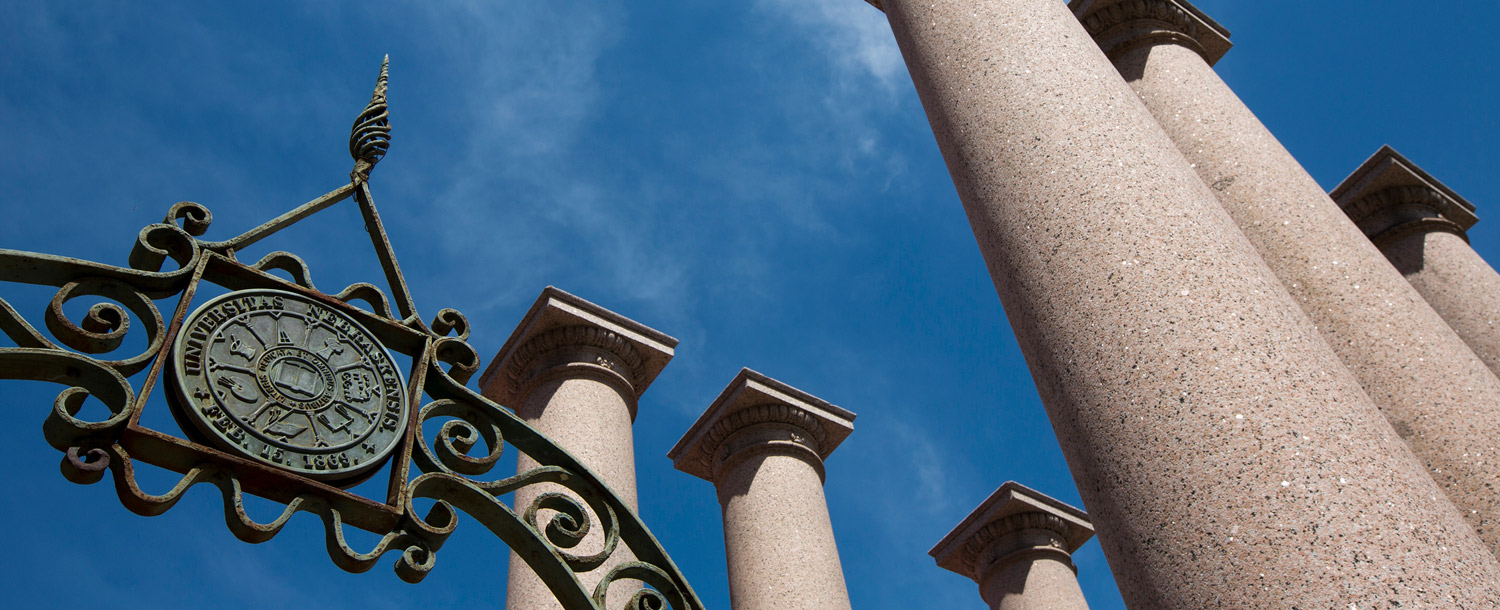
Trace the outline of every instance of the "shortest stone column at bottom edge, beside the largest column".
<instances>
[{"instance_id":1,"label":"shortest stone column at bottom edge, beside the largest column","mask_svg":"<svg viewBox=\"0 0 1500 610\"><path fill-rule=\"evenodd\" d=\"M928 555L980 583L990 610L1088 610L1072 553L1089 538L1083 511L1008 481Z\"/></svg>"}]
</instances>

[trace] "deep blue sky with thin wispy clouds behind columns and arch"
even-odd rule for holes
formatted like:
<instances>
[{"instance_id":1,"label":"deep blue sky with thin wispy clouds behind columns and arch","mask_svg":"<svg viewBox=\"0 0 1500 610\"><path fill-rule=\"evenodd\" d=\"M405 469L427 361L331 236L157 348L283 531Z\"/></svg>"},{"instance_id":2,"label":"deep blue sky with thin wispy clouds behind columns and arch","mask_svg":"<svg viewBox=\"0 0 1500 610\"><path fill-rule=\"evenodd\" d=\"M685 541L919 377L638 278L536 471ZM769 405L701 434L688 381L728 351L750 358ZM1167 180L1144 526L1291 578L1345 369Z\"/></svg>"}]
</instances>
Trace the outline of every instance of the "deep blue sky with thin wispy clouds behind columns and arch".
<instances>
[{"instance_id":1,"label":"deep blue sky with thin wispy clouds behind columns and arch","mask_svg":"<svg viewBox=\"0 0 1500 610\"><path fill-rule=\"evenodd\" d=\"M1324 187L1390 144L1479 207L1470 238L1500 261L1497 4L1198 6L1234 31L1220 73ZM890 28L860 0L3 0L0 247L123 265L172 202L207 205L224 238L340 186L386 52L394 142L374 189L424 318L465 312L488 358L556 285L681 340L640 402L640 513L710 607L728 607L717 501L664 456L744 366L860 415L826 483L855 607L980 609L927 550L1006 480L1078 504ZM380 277L351 205L304 225L244 258L302 253L328 291ZM38 325L51 292L0 283ZM0 388L16 607L502 598L506 552L472 522L411 586L390 559L333 567L312 516L243 544L212 489L134 516L108 483L58 475L40 436L57 388ZM1090 604L1120 607L1096 543L1077 564Z\"/></svg>"}]
</instances>

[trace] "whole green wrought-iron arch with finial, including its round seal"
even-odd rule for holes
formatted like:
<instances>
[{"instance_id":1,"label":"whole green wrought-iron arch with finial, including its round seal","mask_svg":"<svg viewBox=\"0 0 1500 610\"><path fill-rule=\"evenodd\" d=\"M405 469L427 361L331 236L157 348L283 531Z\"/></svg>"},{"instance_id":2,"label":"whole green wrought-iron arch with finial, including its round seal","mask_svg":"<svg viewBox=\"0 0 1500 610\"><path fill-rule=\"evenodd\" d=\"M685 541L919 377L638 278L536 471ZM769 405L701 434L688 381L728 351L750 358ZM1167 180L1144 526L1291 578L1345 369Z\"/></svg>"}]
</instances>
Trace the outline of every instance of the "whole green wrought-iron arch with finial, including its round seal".
<instances>
[{"instance_id":1,"label":"whole green wrought-iron arch with finial, including its round seal","mask_svg":"<svg viewBox=\"0 0 1500 610\"><path fill-rule=\"evenodd\" d=\"M63 453L63 475L80 484L108 475L120 502L141 516L164 514L188 489L212 484L243 541L267 541L294 514L312 513L338 567L363 573L399 553L396 573L416 583L435 567L462 511L567 609L606 610L610 586L621 586L632 589L615 595L624 609L702 610L656 537L596 474L466 385L480 364L468 319L453 309L430 322L417 313L369 184L390 148L387 81L388 57L350 133L350 181L250 231L204 240L213 213L178 202L140 231L126 267L0 249L0 280L57 286L42 313L45 334L0 298L0 333L15 343L0 348L0 379L64 385L42 424L46 442ZM388 297L363 282L321 292L308 264L288 252L238 258L346 199L360 208ZM204 286L228 292L194 309ZM64 306L78 298L100 301L75 321ZM172 298L177 306L164 316L158 301ZM142 351L114 357L132 333L141 339L130 345ZM392 352L410 358L405 375ZM186 438L141 423L158 384ZM87 399L106 415L84 417ZM490 477L506 445L537 466ZM147 493L136 483L138 463L180 478L165 493ZM384 498L346 490L382 468L390 472ZM530 486L552 492L528 507L500 499ZM246 495L278 502L280 516L250 519ZM417 501L430 504L424 514ZM381 538L360 552L345 540L346 528ZM602 547L579 550L592 528ZM615 556L626 561L610 564L598 585L584 585L580 573L603 570Z\"/></svg>"}]
</instances>

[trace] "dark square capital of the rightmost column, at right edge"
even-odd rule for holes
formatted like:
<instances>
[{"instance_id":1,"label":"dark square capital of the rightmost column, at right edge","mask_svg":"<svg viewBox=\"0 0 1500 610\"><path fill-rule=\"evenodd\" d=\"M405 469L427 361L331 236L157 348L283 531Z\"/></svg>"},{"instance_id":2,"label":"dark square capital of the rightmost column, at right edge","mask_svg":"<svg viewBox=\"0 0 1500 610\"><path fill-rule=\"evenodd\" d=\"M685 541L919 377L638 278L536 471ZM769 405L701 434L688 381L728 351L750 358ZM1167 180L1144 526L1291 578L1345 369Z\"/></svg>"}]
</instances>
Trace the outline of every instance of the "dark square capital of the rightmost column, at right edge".
<instances>
[{"instance_id":1,"label":"dark square capital of the rightmost column, at right edge","mask_svg":"<svg viewBox=\"0 0 1500 610\"><path fill-rule=\"evenodd\" d=\"M1376 246L1428 231L1458 234L1467 241L1466 231L1479 222L1474 204L1389 145L1371 154L1329 196Z\"/></svg>"}]
</instances>

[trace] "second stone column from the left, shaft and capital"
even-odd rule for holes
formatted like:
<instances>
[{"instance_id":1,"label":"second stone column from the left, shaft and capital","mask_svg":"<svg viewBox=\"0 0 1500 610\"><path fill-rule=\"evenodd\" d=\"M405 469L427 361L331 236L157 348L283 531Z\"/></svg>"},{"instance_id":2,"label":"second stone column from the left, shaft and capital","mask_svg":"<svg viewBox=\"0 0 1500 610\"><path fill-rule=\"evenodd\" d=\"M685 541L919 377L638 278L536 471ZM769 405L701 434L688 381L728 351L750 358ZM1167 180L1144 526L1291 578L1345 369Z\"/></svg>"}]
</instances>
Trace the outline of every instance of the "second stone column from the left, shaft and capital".
<instances>
[{"instance_id":1,"label":"second stone column from the left, shaft and capital","mask_svg":"<svg viewBox=\"0 0 1500 610\"><path fill-rule=\"evenodd\" d=\"M668 453L718 492L734 610L849 609L824 460L854 417L744 369Z\"/></svg>"}]
</instances>

